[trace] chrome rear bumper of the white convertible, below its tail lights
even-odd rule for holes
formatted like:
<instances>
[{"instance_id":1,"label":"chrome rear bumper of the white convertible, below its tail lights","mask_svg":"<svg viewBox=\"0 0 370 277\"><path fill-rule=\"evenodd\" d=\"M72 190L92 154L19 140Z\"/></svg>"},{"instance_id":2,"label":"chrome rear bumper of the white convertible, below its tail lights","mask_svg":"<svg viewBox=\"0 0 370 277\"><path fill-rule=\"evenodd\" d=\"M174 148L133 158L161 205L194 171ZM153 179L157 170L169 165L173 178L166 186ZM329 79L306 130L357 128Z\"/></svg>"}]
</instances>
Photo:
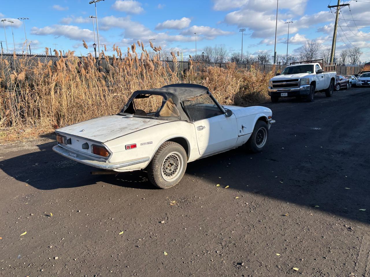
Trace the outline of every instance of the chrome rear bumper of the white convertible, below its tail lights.
<instances>
[{"instance_id":1,"label":"chrome rear bumper of the white convertible, below its tail lights","mask_svg":"<svg viewBox=\"0 0 370 277\"><path fill-rule=\"evenodd\" d=\"M134 164L141 164L149 161L149 157L144 157L144 158L137 158L134 160L129 160L129 161L121 161L117 163L105 163L101 161L94 161L94 160L89 160L86 156L83 156L81 154L76 154L76 153L71 153L71 151L65 150L64 148L56 145L53 147L53 151L55 153L58 153L62 155L63 157L66 157L68 159L77 161L78 163L85 164L85 165L90 165L92 167L96 168L101 168L101 169L107 169L107 170L112 170L115 168L121 168L121 167L128 167L130 165ZM74 156L70 155L73 154Z\"/></svg>"}]
</instances>

